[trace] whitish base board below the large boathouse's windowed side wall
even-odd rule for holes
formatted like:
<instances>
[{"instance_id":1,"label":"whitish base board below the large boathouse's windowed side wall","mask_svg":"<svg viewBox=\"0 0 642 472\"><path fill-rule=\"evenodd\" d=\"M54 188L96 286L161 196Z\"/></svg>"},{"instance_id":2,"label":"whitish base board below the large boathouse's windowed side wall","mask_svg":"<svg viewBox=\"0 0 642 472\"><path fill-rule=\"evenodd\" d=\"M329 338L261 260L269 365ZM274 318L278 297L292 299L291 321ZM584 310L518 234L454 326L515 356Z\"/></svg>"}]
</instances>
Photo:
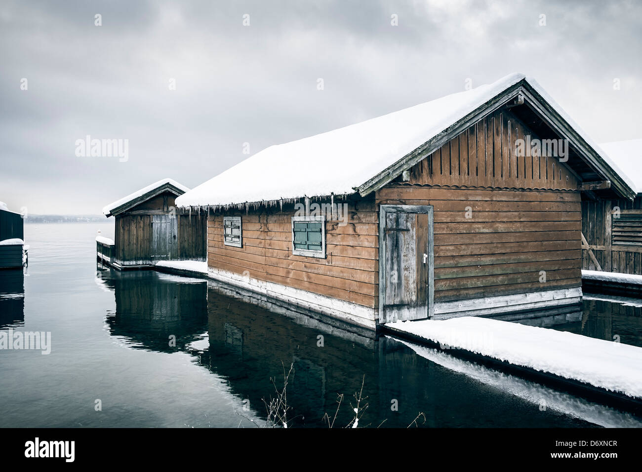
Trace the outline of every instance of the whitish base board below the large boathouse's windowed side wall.
<instances>
[{"instance_id":1,"label":"whitish base board below the large boathouse's windowed side wall","mask_svg":"<svg viewBox=\"0 0 642 472\"><path fill-rule=\"evenodd\" d=\"M317 311L364 328L376 329L377 326L377 313L374 308L307 292L299 288L262 281L247 275L234 274L234 272L216 267L207 267L207 274L215 280L262 293L273 299L288 302L306 310Z\"/></svg>"}]
</instances>

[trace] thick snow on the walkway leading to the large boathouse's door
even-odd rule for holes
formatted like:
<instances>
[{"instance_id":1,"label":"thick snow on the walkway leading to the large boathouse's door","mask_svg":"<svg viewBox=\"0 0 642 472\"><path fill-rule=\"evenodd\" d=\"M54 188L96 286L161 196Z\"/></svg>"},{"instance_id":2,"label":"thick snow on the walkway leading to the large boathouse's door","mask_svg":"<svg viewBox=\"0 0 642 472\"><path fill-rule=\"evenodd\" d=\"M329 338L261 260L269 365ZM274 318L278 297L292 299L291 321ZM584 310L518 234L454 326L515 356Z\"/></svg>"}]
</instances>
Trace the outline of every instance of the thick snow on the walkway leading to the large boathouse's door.
<instances>
[{"instance_id":1,"label":"thick snow on the walkway leading to the large boathouse's door","mask_svg":"<svg viewBox=\"0 0 642 472\"><path fill-rule=\"evenodd\" d=\"M642 347L480 317L397 321L388 328L535 371L642 398Z\"/></svg>"}]
</instances>

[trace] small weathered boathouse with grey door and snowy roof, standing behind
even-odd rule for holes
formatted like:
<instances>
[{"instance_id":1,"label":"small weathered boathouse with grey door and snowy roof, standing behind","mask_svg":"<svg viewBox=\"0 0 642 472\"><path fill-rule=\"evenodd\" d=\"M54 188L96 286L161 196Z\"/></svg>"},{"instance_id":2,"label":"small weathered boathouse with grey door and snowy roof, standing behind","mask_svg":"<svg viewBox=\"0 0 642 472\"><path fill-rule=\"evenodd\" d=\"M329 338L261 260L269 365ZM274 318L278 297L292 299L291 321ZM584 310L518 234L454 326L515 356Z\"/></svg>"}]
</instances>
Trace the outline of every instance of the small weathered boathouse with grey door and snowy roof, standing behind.
<instances>
[{"instance_id":1,"label":"small weathered boathouse with grey door and snowy roof, standing behind","mask_svg":"<svg viewBox=\"0 0 642 472\"><path fill-rule=\"evenodd\" d=\"M98 236L98 258L117 269L153 268L158 261L205 261L204 214L177 209L187 187L171 179L135 191L103 208L116 218L114 240Z\"/></svg>"}]
</instances>

